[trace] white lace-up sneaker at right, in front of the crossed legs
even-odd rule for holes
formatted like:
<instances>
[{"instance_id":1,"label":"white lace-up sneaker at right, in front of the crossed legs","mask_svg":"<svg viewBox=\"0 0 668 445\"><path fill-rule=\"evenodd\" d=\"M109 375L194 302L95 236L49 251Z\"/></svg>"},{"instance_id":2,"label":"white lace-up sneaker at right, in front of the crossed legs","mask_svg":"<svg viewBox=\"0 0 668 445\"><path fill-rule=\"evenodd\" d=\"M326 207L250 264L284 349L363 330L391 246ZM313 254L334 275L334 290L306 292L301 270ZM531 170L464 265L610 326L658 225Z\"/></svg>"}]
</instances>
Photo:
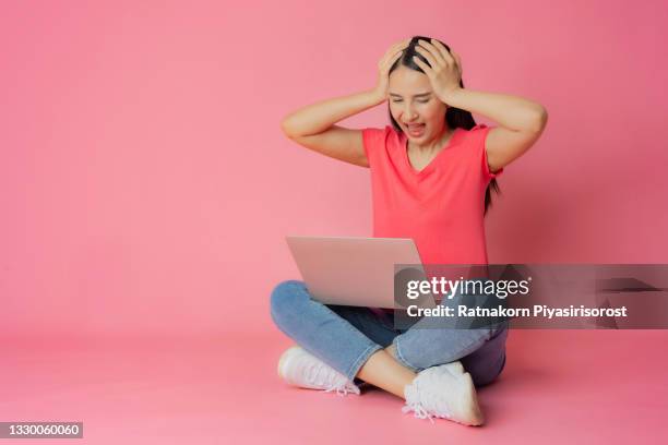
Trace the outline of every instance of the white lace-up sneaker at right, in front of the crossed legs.
<instances>
[{"instance_id":1,"label":"white lace-up sneaker at right, in front of the crossed legs","mask_svg":"<svg viewBox=\"0 0 668 445\"><path fill-rule=\"evenodd\" d=\"M406 385L406 406L402 411L414 411L416 418L431 422L436 417L481 425L485 420L470 374L452 375L445 366L428 368Z\"/></svg>"}]
</instances>

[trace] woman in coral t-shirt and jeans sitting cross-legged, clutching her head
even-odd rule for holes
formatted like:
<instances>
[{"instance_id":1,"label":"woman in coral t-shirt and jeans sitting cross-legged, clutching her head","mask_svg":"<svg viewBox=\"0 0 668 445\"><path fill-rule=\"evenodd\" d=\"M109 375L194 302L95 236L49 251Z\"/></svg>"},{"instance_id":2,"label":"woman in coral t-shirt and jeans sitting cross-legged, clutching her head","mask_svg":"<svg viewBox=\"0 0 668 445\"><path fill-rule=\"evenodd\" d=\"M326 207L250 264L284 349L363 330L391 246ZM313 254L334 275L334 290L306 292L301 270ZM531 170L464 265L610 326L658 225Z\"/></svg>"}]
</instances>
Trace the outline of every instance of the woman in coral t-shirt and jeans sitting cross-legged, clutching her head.
<instances>
[{"instance_id":1,"label":"woman in coral t-shirt and jeans sitting cross-legged, clutching her head","mask_svg":"<svg viewBox=\"0 0 668 445\"><path fill-rule=\"evenodd\" d=\"M392 127L336 125L385 100ZM473 112L498 125L476 125ZM387 50L373 89L299 109L282 128L300 145L371 169L374 237L414 239L425 264L487 264L490 188L546 122L539 104L465 89L458 55L418 36ZM278 363L288 383L360 394L366 382L404 398L404 412L418 418L482 424L476 386L505 363L506 325L396 329L391 314L324 305L297 280L274 289L271 311L300 345Z\"/></svg>"}]
</instances>

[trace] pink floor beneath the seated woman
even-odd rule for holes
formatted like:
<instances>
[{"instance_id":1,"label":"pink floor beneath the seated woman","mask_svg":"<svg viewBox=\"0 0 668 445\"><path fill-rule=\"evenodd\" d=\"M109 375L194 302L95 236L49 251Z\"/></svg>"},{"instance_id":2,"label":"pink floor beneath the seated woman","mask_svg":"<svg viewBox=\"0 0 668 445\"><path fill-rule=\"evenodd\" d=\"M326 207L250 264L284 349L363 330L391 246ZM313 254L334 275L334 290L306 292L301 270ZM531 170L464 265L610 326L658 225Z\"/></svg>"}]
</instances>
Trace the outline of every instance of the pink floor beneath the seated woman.
<instances>
[{"instance_id":1,"label":"pink floor beneath the seated woman","mask_svg":"<svg viewBox=\"0 0 668 445\"><path fill-rule=\"evenodd\" d=\"M399 399L374 388L339 397L285 386L275 364L291 342L281 333L5 339L0 420L84 422L84 440L59 444L658 444L668 440L666 340L651 330L512 330L502 378L479 392L487 424L466 428L402 414Z\"/></svg>"}]
</instances>

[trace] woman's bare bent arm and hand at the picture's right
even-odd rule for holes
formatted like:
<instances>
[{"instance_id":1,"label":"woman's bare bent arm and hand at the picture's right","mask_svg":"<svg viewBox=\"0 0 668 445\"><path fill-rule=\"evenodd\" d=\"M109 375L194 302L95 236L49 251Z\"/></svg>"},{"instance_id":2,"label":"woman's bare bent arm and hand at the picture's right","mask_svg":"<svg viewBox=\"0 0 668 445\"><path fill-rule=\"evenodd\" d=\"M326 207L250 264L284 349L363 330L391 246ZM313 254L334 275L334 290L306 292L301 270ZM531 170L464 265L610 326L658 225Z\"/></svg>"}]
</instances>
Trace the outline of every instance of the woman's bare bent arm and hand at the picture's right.
<instances>
[{"instance_id":1,"label":"woman's bare bent arm and hand at the picture's right","mask_svg":"<svg viewBox=\"0 0 668 445\"><path fill-rule=\"evenodd\" d=\"M487 163L497 171L522 156L538 140L547 123L547 111L540 104L517 96L484 93L460 87L462 61L437 40L420 40L416 50L429 65L415 62L429 76L434 93L443 103L485 116L499 125L486 140Z\"/></svg>"}]
</instances>

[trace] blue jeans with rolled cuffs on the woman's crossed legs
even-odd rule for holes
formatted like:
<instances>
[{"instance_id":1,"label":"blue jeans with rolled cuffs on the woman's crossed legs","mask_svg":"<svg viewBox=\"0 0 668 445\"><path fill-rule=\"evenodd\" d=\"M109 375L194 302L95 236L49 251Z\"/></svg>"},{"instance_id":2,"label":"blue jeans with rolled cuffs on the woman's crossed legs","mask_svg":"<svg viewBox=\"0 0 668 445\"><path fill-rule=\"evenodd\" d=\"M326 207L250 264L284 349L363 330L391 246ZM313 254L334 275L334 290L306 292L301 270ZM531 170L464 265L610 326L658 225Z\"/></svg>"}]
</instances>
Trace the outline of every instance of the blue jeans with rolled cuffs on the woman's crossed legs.
<instances>
[{"instance_id":1,"label":"blue jeans with rolled cuffs on the woman's crossed legs","mask_svg":"<svg viewBox=\"0 0 668 445\"><path fill-rule=\"evenodd\" d=\"M430 317L429 328L420 328L418 322L397 329L391 313L323 304L313 300L299 280L274 288L271 313L278 329L350 381L371 354L390 345L394 345L396 360L415 372L460 360L476 386L491 383L505 365L506 323L470 329L434 328L434 317Z\"/></svg>"}]
</instances>

